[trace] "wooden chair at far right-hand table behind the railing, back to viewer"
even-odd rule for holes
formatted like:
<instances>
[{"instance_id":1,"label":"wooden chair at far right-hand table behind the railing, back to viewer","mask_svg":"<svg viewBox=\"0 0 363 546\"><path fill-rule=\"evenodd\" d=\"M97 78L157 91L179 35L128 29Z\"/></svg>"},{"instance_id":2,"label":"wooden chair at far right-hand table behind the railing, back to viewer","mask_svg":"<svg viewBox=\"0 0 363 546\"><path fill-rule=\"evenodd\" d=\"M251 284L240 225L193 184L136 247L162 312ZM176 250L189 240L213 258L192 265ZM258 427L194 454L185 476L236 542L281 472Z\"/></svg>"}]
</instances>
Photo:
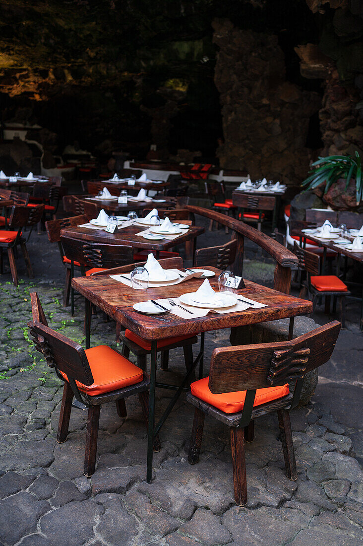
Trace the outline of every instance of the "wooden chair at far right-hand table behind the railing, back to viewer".
<instances>
[{"instance_id":1,"label":"wooden chair at far right-hand table behind the railing, back to viewer","mask_svg":"<svg viewBox=\"0 0 363 546\"><path fill-rule=\"evenodd\" d=\"M239 209L239 219L247 224L257 224L257 229L260 232L261 224L265 219L264 211L275 211L276 197L272 197L271 195L248 195L242 192L234 192L233 203ZM245 212L246 209L247 211ZM274 221L272 220L272 224L273 223Z\"/></svg>"}]
</instances>

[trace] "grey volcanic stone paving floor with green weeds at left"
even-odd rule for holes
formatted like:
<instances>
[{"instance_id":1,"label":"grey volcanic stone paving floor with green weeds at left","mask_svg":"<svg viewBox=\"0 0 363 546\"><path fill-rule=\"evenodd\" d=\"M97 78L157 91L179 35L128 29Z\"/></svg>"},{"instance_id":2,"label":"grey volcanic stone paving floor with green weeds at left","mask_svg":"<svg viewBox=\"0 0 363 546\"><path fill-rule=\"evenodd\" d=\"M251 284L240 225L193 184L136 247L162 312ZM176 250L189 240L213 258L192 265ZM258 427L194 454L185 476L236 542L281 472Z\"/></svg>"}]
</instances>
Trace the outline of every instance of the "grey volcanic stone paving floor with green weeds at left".
<instances>
[{"instance_id":1,"label":"grey volcanic stone paving floor with green weeds at left","mask_svg":"<svg viewBox=\"0 0 363 546\"><path fill-rule=\"evenodd\" d=\"M224 234L216 235L223 240ZM363 544L358 308L348 306L352 322L320 369L311 403L291 412L297 482L284 474L276 416L260 418L255 440L246 446L248 504L240 508L233 498L227 428L206 418L200 461L188 464L193 408L184 397L160 432L163 448L154 455L152 484L145 480L146 431L136 397L127 399L126 419L117 416L115 405L103 406L91 479L82 474L86 412L73 408L68 440L57 444L62 384L29 342L29 293L37 290L52 328L79 342L84 304L76 299L73 318L62 307L64 270L44 234L32 235L29 250L35 280L14 288L5 274L0 286L0 544ZM271 284L273 264L251 253L255 259L246 264L245 276ZM19 257L24 278L21 262ZM330 319L319 312L315 318ZM116 347L114 340L115 323L103 322L101 313L93 316L92 344ZM213 348L228 343L229 331L208 333L206 364ZM175 351L169 371L157 373L160 381L177 382L182 372L182 353ZM157 391L157 413L171 396Z\"/></svg>"}]
</instances>

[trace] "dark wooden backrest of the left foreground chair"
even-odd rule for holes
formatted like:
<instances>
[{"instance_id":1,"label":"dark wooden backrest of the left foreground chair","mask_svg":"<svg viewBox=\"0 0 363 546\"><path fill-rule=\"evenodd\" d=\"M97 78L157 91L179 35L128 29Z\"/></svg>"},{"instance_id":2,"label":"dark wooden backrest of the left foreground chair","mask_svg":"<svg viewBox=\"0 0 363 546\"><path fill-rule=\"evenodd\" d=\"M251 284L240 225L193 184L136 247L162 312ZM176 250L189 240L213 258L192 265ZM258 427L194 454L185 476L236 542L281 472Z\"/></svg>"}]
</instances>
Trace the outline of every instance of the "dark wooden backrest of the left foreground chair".
<instances>
[{"instance_id":1,"label":"dark wooden backrest of the left foreground chair","mask_svg":"<svg viewBox=\"0 0 363 546\"><path fill-rule=\"evenodd\" d=\"M57 370L66 373L69 382L74 379L84 385L92 385L93 376L90 364L88 364L86 353L79 343L39 322L33 322L31 329L37 336L39 346L49 366L54 366ZM73 387L72 383L71 387Z\"/></svg>"}]
</instances>

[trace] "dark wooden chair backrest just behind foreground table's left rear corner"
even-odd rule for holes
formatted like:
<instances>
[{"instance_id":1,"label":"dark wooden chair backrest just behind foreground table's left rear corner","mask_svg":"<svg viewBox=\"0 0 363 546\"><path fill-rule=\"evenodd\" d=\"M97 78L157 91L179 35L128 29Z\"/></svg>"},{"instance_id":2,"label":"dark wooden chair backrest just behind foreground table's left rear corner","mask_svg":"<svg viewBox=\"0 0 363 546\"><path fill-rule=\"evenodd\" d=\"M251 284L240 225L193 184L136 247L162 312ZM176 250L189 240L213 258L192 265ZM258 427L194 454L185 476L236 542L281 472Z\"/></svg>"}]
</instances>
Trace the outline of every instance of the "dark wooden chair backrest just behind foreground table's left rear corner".
<instances>
[{"instance_id":1,"label":"dark wooden chair backrest just behind foreground table's left rear corner","mask_svg":"<svg viewBox=\"0 0 363 546\"><path fill-rule=\"evenodd\" d=\"M94 268L129 264L134 257L132 246L107 245L72 237L61 237L61 244L68 259Z\"/></svg>"}]
</instances>

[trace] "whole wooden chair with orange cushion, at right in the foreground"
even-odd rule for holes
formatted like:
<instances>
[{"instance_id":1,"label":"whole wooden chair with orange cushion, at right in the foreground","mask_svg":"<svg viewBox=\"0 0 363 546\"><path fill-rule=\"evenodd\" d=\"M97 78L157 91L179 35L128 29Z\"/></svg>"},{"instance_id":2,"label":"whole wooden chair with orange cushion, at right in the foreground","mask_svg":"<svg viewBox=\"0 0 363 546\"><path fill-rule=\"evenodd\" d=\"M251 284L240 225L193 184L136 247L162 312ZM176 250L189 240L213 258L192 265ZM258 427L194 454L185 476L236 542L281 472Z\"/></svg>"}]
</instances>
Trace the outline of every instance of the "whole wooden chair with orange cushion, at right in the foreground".
<instances>
[{"instance_id":1,"label":"whole wooden chair with orange cushion, at right in the foreground","mask_svg":"<svg viewBox=\"0 0 363 546\"><path fill-rule=\"evenodd\" d=\"M266 413L277 411L286 475L297 479L289 410L299 403L305 374L329 360L340 327L334 321L291 341L214 349L210 376L192 383L187 393L195 406L188 462L198 462L205 413L229 426L237 505L247 503L245 441L253 440L254 419ZM287 384L291 381L293 393Z\"/></svg>"}]
</instances>

